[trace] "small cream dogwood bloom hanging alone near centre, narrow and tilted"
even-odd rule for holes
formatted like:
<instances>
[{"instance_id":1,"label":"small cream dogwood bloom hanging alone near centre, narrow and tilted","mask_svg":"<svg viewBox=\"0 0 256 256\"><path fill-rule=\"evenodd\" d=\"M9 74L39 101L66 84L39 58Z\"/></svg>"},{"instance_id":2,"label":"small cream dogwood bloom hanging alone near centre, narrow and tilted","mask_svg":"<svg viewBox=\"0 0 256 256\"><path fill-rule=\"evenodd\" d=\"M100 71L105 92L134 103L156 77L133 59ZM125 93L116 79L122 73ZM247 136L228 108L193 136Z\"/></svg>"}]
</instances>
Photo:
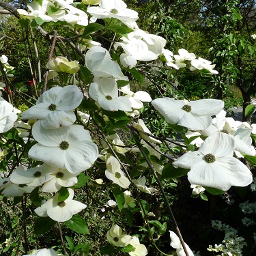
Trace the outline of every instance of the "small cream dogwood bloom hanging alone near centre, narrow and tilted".
<instances>
[{"instance_id":1,"label":"small cream dogwood bloom hanging alone near centre, narrow and tilted","mask_svg":"<svg viewBox=\"0 0 256 256\"><path fill-rule=\"evenodd\" d=\"M130 186L130 181L124 171L121 170L117 158L109 156L106 160L106 168L105 175L109 180L112 180L114 184L121 186L121 188L128 188L128 186Z\"/></svg>"}]
</instances>

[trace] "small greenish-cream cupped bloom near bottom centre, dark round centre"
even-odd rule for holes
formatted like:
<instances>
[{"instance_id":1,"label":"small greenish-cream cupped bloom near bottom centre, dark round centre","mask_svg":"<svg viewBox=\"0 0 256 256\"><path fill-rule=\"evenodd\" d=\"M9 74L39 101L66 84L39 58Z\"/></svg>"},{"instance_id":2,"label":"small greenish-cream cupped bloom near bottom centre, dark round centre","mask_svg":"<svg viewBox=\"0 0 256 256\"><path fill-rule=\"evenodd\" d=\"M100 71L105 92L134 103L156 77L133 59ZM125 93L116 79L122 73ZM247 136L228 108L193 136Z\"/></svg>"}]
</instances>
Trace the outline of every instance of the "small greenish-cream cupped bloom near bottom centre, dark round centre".
<instances>
[{"instance_id":1,"label":"small greenish-cream cupped bloom near bottom centre, dark round centre","mask_svg":"<svg viewBox=\"0 0 256 256\"><path fill-rule=\"evenodd\" d=\"M114 246L124 247L132 240L131 236L125 235L118 225L113 225L106 233L107 240Z\"/></svg>"}]
</instances>

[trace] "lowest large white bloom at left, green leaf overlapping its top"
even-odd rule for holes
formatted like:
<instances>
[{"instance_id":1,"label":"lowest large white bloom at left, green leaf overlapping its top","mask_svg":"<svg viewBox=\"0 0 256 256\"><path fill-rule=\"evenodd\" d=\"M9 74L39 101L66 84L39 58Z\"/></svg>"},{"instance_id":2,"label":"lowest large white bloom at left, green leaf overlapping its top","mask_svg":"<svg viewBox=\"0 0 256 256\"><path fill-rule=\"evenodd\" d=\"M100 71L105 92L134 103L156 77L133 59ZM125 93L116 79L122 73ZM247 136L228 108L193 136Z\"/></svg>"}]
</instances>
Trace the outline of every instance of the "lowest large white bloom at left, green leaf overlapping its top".
<instances>
[{"instance_id":1,"label":"lowest large white bloom at left, green leaf overlapping its top","mask_svg":"<svg viewBox=\"0 0 256 256\"><path fill-rule=\"evenodd\" d=\"M66 200L59 202L59 194L43 203L35 209L35 213L41 217L49 216L54 221L64 222L70 220L74 214L81 212L87 206L79 201L73 200L74 190L68 188L69 196Z\"/></svg>"}]
</instances>

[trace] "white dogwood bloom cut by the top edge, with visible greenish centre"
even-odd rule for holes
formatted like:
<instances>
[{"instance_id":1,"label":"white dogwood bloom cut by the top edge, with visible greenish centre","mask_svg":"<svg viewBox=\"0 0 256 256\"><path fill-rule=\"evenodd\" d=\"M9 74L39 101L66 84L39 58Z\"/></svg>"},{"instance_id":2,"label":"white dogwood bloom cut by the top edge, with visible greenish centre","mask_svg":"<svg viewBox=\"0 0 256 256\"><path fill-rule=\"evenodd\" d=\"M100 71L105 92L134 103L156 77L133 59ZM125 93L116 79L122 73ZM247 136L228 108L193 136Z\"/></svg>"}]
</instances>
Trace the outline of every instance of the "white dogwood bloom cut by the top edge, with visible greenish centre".
<instances>
[{"instance_id":1,"label":"white dogwood bloom cut by the top edge, with visible greenish centre","mask_svg":"<svg viewBox=\"0 0 256 256\"><path fill-rule=\"evenodd\" d=\"M87 8L87 12L96 18L117 18L124 22L136 21L138 12L127 8L122 0L101 0L99 6Z\"/></svg>"}]
</instances>

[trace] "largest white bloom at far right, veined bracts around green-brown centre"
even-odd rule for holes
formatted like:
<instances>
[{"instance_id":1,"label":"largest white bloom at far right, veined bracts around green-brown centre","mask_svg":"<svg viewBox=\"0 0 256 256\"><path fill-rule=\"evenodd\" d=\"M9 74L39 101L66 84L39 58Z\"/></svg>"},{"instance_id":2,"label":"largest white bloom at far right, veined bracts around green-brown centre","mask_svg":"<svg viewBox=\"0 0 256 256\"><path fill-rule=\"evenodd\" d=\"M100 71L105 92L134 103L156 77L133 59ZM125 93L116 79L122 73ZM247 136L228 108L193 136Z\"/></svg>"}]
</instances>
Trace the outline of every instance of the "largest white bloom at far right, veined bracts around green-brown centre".
<instances>
[{"instance_id":1,"label":"largest white bloom at far right, veined bracts around green-brown centre","mask_svg":"<svg viewBox=\"0 0 256 256\"><path fill-rule=\"evenodd\" d=\"M231 186L247 186L253 181L251 171L233 157L234 140L223 132L205 139L198 151L188 152L175 160L175 167L188 168L188 181L223 191Z\"/></svg>"}]
</instances>

